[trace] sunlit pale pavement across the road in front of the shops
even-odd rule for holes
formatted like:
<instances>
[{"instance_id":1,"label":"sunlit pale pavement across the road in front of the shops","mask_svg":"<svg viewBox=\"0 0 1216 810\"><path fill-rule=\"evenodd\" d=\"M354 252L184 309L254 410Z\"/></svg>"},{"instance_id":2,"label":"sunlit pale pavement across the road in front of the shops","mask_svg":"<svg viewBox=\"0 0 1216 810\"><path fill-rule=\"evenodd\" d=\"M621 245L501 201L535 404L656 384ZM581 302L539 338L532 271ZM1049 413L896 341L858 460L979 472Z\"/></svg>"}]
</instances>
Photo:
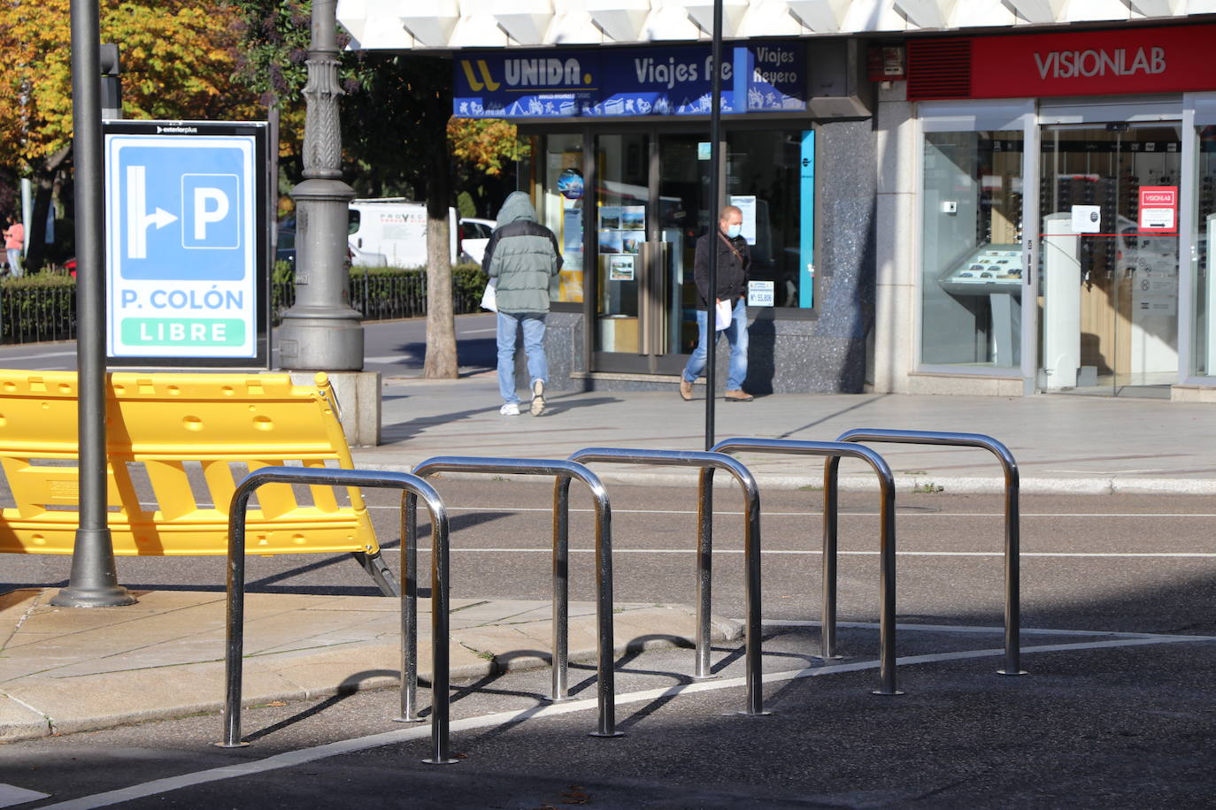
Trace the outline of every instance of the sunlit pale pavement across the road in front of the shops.
<instances>
[{"instance_id":1,"label":"sunlit pale pavement across the road in front of the shops","mask_svg":"<svg viewBox=\"0 0 1216 810\"><path fill-rule=\"evenodd\" d=\"M705 448L704 386L692 402L657 391L552 391L540 417L499 415L494 373L460 380L388 378L383 438L354 449L355 466L409 471L433 455L564 459L585 447ZM777 393L715 403L715 438L832 441L855 427L986 434L1018 461L1025 493L1216 494L1216 407L1169 400L1037 395L1028 397L884 393ZM1004 481L985 451L871 444L896 474L899 491L997 493ZM822 461L739 454L761 487L820 487ZM655 466L596 465L604 482L685 483L696 474ZM868 466L844 460L841 488L877 488Z\"/></svg>"}]
</instances>

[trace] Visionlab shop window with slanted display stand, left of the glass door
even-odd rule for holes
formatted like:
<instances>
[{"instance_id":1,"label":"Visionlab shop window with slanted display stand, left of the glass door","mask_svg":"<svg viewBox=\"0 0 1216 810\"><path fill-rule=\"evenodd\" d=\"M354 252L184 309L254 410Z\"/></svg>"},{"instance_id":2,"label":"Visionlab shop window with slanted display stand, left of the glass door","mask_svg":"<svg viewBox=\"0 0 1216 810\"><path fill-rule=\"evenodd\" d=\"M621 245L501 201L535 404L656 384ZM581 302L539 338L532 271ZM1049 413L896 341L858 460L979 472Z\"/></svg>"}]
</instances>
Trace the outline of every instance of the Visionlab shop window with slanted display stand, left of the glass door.
<instances>
[{"instance_id":1,"label":"Visionlab shop window with slanted display stand, left of the glass door","mask_svg":"<svg viewBox=\"0 0 1216 810\"><path fill-rule=\"evenodd\" d=\"M927 132L921 361L1018 368L1023 132Z\"/></svg>"}]
</instances>

